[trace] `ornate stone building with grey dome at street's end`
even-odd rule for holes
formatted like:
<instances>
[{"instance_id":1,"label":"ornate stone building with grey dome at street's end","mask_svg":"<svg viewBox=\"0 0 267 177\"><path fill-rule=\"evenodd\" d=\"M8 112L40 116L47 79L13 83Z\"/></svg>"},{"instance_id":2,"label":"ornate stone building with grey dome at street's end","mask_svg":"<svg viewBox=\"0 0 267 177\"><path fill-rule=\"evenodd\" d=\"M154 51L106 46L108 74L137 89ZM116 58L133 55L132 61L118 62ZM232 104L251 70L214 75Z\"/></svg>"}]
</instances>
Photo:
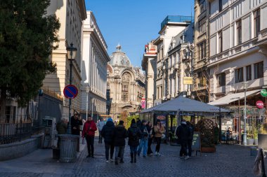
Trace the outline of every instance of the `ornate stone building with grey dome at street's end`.
<instances>
[{"instance_id":1,"label":"ornate stone building with grey dome at street's end","mask_svg":"<svg viewBox=\"0 0 267 177\"><path fill-rule=\"evenodd\" d=\"M133 67L129 57L117 45L108 63L107 106L115 120L141 111L141 100L145 96L145 75L141 68Z\"/></svg>"}]
</instances>

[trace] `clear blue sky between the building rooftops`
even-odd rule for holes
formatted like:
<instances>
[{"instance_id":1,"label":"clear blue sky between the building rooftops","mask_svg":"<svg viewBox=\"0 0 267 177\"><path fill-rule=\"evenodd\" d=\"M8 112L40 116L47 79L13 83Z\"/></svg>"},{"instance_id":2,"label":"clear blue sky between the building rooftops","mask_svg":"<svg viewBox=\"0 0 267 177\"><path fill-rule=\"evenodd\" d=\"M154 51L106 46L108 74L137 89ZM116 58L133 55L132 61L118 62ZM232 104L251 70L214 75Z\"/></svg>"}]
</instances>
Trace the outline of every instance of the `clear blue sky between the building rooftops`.
<instances>
[{"instance_id":1,"label":"clear blue sky between the building rooftops","mask_svg":"<svg viewBox=\"0 0 267 177\"><path fill-rule=\"evenodd\" d=\"M122 45L133 66L141 66L145 44L159 36L167 15L191 15L194 0L85 0L108 44L108 54Z\"/></svg>"}]
</instances>

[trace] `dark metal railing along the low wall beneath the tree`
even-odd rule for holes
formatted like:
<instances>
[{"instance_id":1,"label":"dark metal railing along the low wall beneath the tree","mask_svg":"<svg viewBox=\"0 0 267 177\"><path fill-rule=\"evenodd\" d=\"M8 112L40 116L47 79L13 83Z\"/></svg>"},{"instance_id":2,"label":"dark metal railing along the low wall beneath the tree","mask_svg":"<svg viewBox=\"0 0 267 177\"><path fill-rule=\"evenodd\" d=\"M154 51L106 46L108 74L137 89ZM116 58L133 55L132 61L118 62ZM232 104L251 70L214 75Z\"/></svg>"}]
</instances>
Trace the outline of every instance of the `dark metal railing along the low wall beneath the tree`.
<instances>
[{"instance_id":1,"label":"dark metal railing along the low wall beneath the tree","mask_svg":"<svg viewBox=\"0 0 267 177\"><path fill-rule=\"evenodd\" d=\"M0 145L29 139L33 134L44 130L38 121L27 123L0 124Z\"/></svg>"}]
</instances>

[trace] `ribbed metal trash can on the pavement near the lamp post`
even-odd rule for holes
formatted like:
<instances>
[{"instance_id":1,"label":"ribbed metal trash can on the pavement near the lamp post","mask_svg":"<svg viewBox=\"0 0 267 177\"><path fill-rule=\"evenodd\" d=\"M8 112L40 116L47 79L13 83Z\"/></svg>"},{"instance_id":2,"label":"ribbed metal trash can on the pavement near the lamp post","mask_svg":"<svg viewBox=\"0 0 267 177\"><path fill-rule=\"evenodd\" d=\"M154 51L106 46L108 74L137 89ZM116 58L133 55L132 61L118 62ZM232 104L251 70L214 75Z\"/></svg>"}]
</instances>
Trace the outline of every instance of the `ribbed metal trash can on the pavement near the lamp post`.
<instances>
[{"instance_id":1,"label":"ribbed metal trash can on the pavement near the lamp post","mask_svg":"<svg viewBox=\"0 0 267 177\"><path fill-rule=\"evenodd\" d=\"M77 158L77 135L60 134L60 162L73 163Z\"/></svg>"}]
</instances>

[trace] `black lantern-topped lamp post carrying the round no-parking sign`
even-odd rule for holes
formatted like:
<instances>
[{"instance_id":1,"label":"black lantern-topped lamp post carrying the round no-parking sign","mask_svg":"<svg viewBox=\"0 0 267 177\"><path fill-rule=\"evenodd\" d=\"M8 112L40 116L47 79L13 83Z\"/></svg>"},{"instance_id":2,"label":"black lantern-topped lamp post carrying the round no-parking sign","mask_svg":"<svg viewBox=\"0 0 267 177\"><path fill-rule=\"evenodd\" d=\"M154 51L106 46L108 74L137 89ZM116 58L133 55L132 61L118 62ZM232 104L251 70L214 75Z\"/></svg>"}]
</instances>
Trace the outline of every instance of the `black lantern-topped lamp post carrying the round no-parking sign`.
<instances>
[{"instance_id":1,"label":"black lantern-topped lamp post carrying the round no-parking sign","mask_svg":"<svg viewBox=\"0 0 267 177\"><path fill-rule=\"evenodd\" d=\"M72 84L72 60L76 57L77 48L73 47L73 43L67 47L67 59L70 60L70 85ZM67 134L71 134L71 113L72 99L69 99L69 126L67 127Z\"/></svg>"}]
</instances>

